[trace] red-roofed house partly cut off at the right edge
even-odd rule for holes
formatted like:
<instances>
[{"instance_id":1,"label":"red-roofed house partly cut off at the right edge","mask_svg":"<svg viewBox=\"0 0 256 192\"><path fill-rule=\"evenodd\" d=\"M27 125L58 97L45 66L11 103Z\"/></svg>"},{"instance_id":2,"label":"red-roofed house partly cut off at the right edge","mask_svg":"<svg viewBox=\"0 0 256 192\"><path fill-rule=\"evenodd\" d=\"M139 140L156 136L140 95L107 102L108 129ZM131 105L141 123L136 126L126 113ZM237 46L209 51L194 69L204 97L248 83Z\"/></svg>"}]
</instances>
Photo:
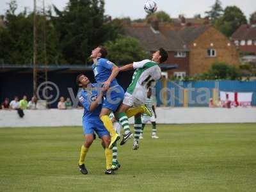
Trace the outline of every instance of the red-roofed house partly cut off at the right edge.
<instances>
[{"instance_id":1,"label":"red-roofed house partly cut off at the right edge","mask_svg":"<svg viewBox=\"0 0 256 192\"><path fill-rule=\"evenodd\" d=\"M240 52L256 55L256 24L241 25L231 36Z\"/></svg>"}]
</instances>

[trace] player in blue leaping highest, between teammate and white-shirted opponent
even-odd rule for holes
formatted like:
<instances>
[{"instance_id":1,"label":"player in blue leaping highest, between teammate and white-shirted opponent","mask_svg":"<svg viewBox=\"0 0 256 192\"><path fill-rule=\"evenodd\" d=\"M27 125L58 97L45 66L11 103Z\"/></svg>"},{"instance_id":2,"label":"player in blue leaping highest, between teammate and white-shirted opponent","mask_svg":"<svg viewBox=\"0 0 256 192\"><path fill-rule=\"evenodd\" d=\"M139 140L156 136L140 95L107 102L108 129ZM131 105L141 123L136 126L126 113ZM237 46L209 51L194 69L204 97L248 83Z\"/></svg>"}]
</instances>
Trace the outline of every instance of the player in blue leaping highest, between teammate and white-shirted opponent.
<instances>
[{"instance_id":1,"label":"player in blue leaping highest, between teammate and white-shirted opponent","mask_svg":"<svg viewBox=\"0 0 256 192\"><path fill-rule=\"evenodd\" d=\"M106 59L108 51L99 46L93 49L91 58L93 59L93 73L98 84L102 84L104 90L104 102L100 111L100 120L102 120L106 129L111 134L111 142L109 148L113 148L114 143L120 139L120 136L113 129L113 123L109 118L111 112L115 113L118 106L124 99L124 89L120 86L115 77L119 72L119 68Z\"/></svg>"}]
</instances>

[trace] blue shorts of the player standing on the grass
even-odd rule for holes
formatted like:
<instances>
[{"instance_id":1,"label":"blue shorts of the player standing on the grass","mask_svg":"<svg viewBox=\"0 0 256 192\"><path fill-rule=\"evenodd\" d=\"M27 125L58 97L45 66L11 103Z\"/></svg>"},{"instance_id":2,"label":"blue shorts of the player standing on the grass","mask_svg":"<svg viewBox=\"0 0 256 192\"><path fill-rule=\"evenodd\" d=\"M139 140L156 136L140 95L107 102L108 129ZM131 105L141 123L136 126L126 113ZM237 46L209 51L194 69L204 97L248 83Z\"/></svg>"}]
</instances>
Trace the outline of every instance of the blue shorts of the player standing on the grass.
<instances>
[{"instance_id":1,"label":"blue shorts of the player standing on the grass","mask_svg":"<svg viewBox=\"0 0 256 192\"><path fill-rule=\"evenodd\" d=\"M84 134L93 134L96 132L100 138L103 136L109 136L108 130L104 127L100 119L93 122L83 120L83 130Z\"/></svg>"}]
</instances>

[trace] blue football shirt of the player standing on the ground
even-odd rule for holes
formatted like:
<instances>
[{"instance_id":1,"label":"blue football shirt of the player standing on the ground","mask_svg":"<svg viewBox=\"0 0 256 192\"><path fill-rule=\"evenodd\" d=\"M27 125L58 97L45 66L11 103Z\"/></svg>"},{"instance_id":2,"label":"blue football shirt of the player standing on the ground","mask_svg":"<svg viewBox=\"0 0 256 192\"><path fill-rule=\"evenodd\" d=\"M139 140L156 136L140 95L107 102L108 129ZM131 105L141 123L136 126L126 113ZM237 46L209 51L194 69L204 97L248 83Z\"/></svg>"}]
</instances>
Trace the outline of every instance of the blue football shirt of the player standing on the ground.
<instances>
[{"instance_id":1,"label":"blue football shirt of the player standing on the ground","mask_svg":"<svg viewBox=\"0 0 256 192\"><path fill-rule=\"evenodd\" d=\"M84 107L83 119L87 122L95 122L100 120L99 115L102 108L102 104L99 104L99 106L97 106L95 110L90 111L90 106L92 102L94 102L97 99L98 88L99 87L97 86L97 83L93 83L92 88L83 89L78 94L79 101Z\"/></svg>"}]
</instances>

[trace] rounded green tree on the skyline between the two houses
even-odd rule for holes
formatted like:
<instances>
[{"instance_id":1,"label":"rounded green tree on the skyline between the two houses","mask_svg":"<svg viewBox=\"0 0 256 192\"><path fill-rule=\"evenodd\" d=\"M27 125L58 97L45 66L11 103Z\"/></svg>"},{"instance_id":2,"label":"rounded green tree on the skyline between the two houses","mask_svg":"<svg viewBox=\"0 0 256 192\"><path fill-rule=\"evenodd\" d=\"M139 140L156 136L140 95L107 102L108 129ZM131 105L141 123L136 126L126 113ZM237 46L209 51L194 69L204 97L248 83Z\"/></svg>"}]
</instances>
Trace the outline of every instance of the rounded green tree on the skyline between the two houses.
<instances>
[{"instance_id":1,"label":"rounded green tree on the skyline between the two houses","mask_svg":"<svg viewBox=\"0 0 256 192\"><path fill-rule=\"evenodd\" d=\"M224 35L231 36L241 24L246 24L244 13L237 6L227 6L224 15L216 20L215 26Z\"/></svg>"}]
</instances>

